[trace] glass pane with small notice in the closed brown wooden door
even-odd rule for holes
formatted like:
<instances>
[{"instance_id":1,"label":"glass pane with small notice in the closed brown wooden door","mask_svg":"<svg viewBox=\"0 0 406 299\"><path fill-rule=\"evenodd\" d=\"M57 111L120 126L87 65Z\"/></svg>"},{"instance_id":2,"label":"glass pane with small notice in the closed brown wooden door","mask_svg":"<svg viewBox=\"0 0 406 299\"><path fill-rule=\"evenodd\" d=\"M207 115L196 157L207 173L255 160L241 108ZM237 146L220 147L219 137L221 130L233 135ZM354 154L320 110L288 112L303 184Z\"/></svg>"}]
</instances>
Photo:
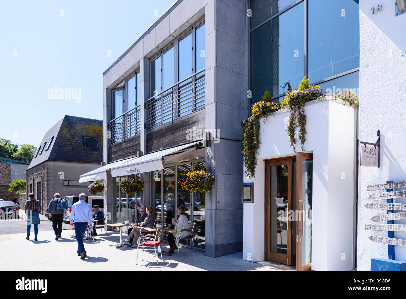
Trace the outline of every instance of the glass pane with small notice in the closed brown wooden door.
<instances>
[{"instance_id":1,"label":"glass pane with small notice in the closed brown wooden door","mask_svg":"<svg viewBox=\"0 0 406 299\"><path fill-rule=\"evenodd\" d=\"M271 166L270 173L270 243L271 252L287 254L287 165ZM282 198L282 203L276 204L276 199Z\"/></svg>"}]
</instances>

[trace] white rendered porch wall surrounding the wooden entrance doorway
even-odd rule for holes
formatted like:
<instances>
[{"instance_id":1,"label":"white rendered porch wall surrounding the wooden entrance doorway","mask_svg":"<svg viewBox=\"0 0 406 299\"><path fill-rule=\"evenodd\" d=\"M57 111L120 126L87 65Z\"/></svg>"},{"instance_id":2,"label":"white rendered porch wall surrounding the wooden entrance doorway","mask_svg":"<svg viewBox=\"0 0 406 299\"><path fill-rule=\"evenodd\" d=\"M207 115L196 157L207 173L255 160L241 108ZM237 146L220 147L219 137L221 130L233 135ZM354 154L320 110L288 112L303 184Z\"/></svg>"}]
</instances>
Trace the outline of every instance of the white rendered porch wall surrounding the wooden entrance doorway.
<instances>
[{"instance_id":1,"label":"white rendered porch wall surrounding the wooden entrance doorway","mask_svg":"<svg viewBox=\"0 0 406 299\"><path fill-rule=\"evenodd\" d=\"M323 100L307 103L305 114L304 150L313 152L312 269L352 270L355 111L342 102ZM254 203L244 204L244 260L265 259L264 159L295 154L286 132L289 115L281 111L265 124L260 120L255 178L244 178L254 182Z\"/></svg>"}]
</instances>

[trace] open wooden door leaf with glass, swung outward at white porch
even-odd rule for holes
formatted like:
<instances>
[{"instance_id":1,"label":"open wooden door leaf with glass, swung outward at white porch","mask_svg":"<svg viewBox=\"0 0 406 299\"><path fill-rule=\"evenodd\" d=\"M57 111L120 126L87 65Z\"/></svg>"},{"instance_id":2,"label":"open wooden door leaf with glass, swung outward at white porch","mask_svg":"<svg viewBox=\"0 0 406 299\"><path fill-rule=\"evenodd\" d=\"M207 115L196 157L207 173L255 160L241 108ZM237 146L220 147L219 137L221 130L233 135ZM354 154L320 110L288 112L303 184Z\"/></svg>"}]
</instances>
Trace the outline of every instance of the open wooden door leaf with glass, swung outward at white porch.
<instances>
[{"instance_id":1,"label":"open wooden door leaf with glass, swung outward at white porch","mask_svg":"<svg viewBox=\"0 0 406 299\"><path fill-rule=\"evenodd\" d=\"M296 154L296 270L311 269L313 154Z\"/></svg>"}]
</instances>

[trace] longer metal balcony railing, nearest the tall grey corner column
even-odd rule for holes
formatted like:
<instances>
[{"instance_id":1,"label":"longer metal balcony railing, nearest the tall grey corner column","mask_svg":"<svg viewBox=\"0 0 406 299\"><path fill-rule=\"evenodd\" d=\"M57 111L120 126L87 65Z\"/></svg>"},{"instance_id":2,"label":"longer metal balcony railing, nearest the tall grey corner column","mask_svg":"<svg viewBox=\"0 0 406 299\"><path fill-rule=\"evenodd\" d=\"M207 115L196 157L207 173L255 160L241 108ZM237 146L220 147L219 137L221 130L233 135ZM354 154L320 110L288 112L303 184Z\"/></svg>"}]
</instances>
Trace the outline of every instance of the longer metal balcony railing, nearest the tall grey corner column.
<instances>
[{"instance_id":1,"label":"longer metal balcony railing, nearest the tall grey corner column","mask_svg":"<svg viewBox=\"0 0 406 299\"><path fill-rule=\"evenodd\" d=\"M205 108L205 69L177 82L147 101L147 129Z\"/></svg>"}]
</instances>

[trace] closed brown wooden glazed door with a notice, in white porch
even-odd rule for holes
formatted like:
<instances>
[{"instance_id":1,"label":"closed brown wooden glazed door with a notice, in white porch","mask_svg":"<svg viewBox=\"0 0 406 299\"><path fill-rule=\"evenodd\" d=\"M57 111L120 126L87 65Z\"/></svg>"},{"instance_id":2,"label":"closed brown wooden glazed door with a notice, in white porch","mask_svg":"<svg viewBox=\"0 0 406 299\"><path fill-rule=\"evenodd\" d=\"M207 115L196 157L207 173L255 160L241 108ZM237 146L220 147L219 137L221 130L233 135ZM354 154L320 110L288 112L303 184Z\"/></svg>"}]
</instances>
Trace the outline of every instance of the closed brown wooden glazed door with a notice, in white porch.
<instances>
[{"instance_id":1,"label":"closed brown wooden glazed door with a notice, in white porch","mask_svg":"<svg viewBox=\"0 0 406 299\"><path fill-rule=\"evenodd\" d=\"M265 171L265 259L292 265L293 159L267 160Z\"/></svg>"}]
</instances>

